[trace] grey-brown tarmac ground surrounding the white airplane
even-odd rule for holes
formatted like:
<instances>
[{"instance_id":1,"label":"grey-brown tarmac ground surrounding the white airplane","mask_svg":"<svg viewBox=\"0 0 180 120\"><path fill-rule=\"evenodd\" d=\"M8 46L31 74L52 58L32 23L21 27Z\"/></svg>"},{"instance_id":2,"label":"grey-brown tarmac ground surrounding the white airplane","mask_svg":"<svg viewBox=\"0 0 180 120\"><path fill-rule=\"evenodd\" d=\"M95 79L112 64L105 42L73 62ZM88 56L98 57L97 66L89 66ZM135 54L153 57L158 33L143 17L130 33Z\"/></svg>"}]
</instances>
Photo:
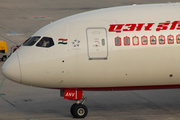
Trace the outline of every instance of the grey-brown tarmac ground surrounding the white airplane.
<instances>
[{"instance_id":1,"label":"grey-brown tarmac ground surrounding the white airplane","mask_svg":"<svg viewBox=\"0 0 180 120\"><path fill-rule=\"evenodd\" d=\"M0 40L7 42L9 54L12 46L58 19L107 7L163 2L178 1L0 0ZM180 120L179 93L180 89L84 91L89 110L84 120ZM60 97L59 90L17 84L0 73L0 120L74 120L73 103Z\"/></svg>"}]
</instances>

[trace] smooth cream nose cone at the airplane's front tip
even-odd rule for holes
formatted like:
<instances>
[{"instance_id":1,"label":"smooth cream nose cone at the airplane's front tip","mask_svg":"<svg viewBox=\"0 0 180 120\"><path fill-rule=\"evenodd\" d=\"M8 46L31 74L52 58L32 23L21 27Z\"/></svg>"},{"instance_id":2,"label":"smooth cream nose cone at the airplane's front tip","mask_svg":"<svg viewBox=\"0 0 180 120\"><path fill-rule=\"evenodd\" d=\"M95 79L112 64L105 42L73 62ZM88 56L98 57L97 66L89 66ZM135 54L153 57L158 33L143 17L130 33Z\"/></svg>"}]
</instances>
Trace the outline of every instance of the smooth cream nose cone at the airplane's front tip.
<instances>
[{"instance_id":1,"label":"smooth cream nose cone at the airplane's front tip","mask_svg":"<svg viewBox=\"0 0 180 120\"><path fill-rule=\"evenodd\" d=\"M17 51L2 66L2 74L14 82L21 83L21 71Z\"/></svg>"}]
</instances>

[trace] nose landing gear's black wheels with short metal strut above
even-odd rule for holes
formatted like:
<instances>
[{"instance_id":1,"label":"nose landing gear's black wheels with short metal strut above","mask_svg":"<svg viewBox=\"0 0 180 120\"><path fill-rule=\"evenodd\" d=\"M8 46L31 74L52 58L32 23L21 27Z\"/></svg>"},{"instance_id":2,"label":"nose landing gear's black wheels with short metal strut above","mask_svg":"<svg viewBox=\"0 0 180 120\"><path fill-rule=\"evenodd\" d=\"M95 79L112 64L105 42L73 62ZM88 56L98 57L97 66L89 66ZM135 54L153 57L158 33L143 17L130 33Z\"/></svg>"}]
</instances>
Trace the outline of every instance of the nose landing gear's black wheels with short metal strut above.
<instances>
[{"instance_id":1,"label":"nose landing gear's black wheels with short metal strut above","mask_svg":"<svg viewBox=\"0 0 180 120\"><path fill-rule=\"evenodd\" d=\"M85 101L86 101L86 98L83 98L82 102L77 101L77 103L74 103L71 106L70 111L71 111L72 116L74 116L75 118L84 118L84 117L86 117L86 115L88 113L88 109L84 105Z\"/></svg>"}]
</instances>

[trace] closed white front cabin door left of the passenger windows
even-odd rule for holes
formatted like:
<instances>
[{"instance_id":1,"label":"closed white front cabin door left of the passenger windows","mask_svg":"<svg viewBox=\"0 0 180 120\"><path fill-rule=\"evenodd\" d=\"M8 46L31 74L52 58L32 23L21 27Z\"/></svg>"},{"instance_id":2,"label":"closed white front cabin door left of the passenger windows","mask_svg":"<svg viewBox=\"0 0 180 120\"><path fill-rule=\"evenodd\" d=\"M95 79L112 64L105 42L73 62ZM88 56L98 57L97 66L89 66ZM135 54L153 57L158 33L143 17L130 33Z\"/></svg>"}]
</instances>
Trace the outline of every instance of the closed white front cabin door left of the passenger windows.
<instances>
[{"instance_id":1,"label":"closed white front cabin door left of the passenger windows","mask_svg":"<svg viewBox=\"0 0 180 120\"><path fill-rule=\"evenodd\" d=\"M86 35L89 60L106 60L108 57L108 40L106 28L87 28Z\"/></svg>"}]
</instances>

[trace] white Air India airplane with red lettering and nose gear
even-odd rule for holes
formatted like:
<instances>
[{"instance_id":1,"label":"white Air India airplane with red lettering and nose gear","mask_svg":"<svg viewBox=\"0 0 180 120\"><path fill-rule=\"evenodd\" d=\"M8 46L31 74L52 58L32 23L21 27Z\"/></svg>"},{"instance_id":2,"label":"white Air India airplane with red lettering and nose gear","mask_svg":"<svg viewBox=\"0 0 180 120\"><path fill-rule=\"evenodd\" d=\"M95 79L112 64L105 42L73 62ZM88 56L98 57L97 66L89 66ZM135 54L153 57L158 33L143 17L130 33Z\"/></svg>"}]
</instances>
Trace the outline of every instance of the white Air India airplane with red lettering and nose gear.
<instances>
[{"instance_id":1,"label":"white Air India airplane with red lettering and nose gear","mask_svg":"<svg viewBox=\"0 0 180 120\"><path fill-rule=\"evenodd\" d=\"M180 88L180 3L79 13L38 30L2 66L20 84L60 89L84 118L83 91Z\"/></svg>"}]
</instances>

